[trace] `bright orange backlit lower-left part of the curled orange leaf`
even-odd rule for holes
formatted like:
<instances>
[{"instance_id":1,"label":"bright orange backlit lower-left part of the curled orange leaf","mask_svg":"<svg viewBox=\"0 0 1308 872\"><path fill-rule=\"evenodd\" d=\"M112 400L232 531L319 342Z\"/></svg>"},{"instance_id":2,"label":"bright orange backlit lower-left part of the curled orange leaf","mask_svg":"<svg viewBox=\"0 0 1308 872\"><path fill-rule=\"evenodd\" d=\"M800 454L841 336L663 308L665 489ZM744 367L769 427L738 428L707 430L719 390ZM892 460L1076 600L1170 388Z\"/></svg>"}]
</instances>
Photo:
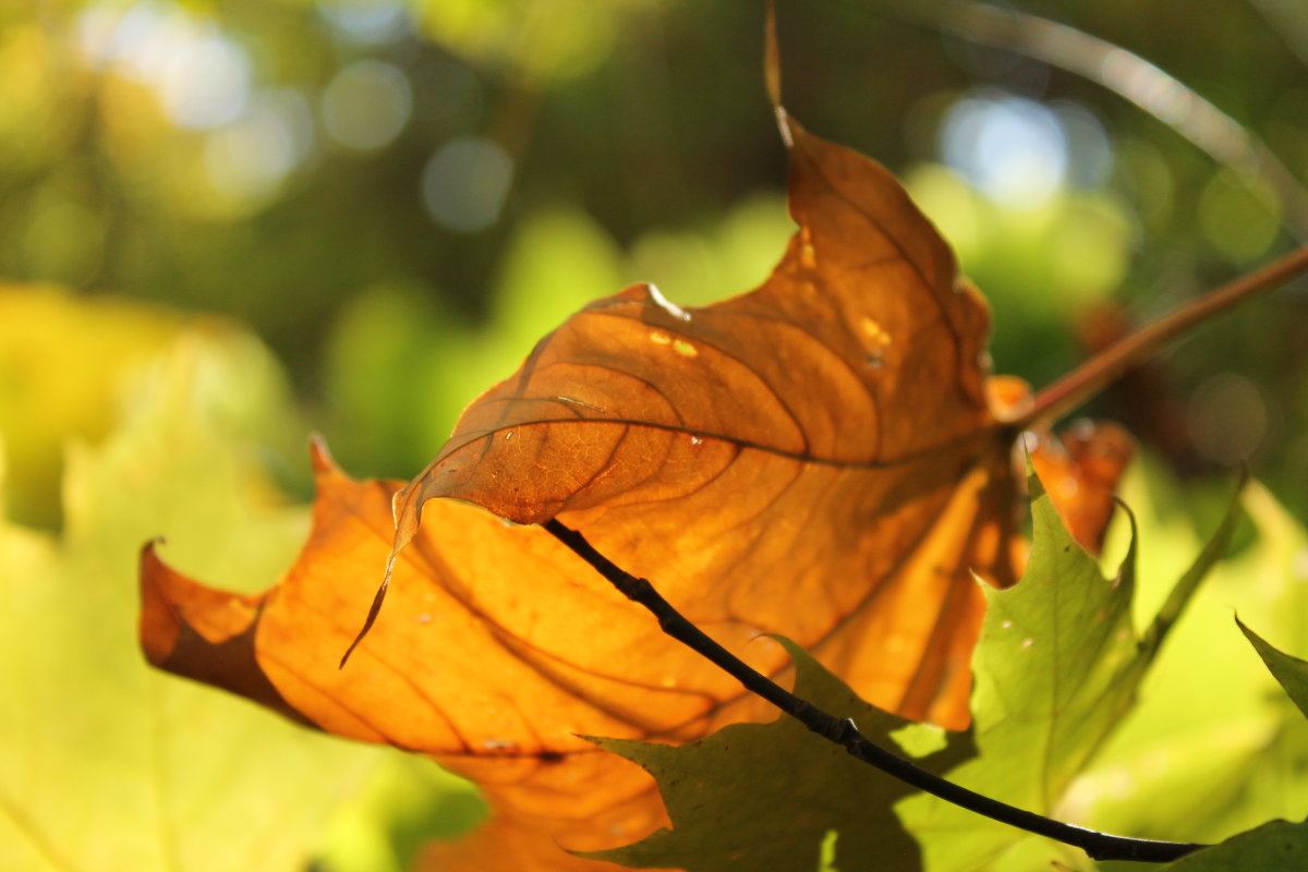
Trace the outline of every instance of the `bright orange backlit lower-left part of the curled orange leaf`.
<instances>
[{"instance_id":1,"label":"bright orange backlit lower-left part of the curled orange leaf","mask_svg":"<svg viewBox=\"0 0 1308 872\"><path fill-rule=\"evenodd\" d=\"M429 509L383 620L337 669L386 562L402 482L353 481L322 446L313 459L309 540L263 596L207 588L145 548L141 646L160 668L476 779L496 824L449 848L463 865L447 868L496 868L498 856L518 869L612 868L559 846L613 847L667 817L644 770L577 733L689 739L755 714L552 536L454 501ZM777 647L729 638L755 654Z\"/></svg>"}]
</instances>

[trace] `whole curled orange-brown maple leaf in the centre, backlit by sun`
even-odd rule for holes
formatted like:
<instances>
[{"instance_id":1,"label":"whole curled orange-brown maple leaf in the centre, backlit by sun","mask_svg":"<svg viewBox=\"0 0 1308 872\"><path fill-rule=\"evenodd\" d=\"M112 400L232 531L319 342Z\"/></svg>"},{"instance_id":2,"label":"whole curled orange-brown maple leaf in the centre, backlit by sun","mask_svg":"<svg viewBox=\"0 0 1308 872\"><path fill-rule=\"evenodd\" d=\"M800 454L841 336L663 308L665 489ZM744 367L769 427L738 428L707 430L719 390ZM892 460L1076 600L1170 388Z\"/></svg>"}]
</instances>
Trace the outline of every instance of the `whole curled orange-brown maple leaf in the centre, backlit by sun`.
<instances>
[{"instance_id":1,"label":"whole curled orange-brown maple leaf in the centre, backlit by sun","mask_svg":"<svg viewBox=\"0 0 1308 872\"><path fill-rule=\"evenodd\" d=\"M764 713L530 526L556 516L759 671L786 668L763 638L782 634L870 702L965 726L973 573L1010 584L1022 553L989 312L888 171L783 124L799 229L761 288L591 303L403 489L315 448L313 532L263 596L148 546L150 662L477 779L496 822L443 848L468 869L607 868L556 843L666 825L653 780L578 733L683 741ZM388 553L387 611L337 669Z\"/></svg>"}]
</instances>

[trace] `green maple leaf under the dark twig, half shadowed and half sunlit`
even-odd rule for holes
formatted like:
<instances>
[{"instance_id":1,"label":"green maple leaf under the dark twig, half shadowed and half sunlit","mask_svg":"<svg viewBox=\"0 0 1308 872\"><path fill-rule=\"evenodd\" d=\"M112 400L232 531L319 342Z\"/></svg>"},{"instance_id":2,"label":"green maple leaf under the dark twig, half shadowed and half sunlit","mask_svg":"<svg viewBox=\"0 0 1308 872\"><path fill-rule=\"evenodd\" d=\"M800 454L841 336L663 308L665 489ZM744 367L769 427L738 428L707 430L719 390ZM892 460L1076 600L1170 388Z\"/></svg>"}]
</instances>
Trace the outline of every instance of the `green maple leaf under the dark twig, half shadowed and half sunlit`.
<instances>
[{"instance_id":1,"label":"green maple leaf under the dark twig, half shadowed and half sunlit","mask_svg":"<svg viewBox=\"0 0 1308 872\"><path fill-rule=\"evenodd\" d=\"M989 796L1049 812L1133 705L1162 638L1154 630L1137 638L1130 628L1134 546L1122 571L1105 579L1037 481L1032 490L1029 566L1019 586L988 595L991 609L974 654L977 745L972 735L950 736L951 753L925 757L920 765L935 773L952 767L951 778ZM1164 624L1176 618L1224 552L1236 518L1232 506L1163 607ZM800 648L787 650L798 664L799 697L853 718L883 746L897 743L903 722L853 697ZM650 770L672 817L671 830L603 855L633 867L815 868L831 833L838 868L1016 869L1031 865L1014 864L1015 850L1040 865L1079 855L935 797L910 797L910 788L852 763L840 745L791 718L730 726L681 748L629 740L602 745ZM908 831L920 837L921 851Z\"/></svg>"}]
</instances>

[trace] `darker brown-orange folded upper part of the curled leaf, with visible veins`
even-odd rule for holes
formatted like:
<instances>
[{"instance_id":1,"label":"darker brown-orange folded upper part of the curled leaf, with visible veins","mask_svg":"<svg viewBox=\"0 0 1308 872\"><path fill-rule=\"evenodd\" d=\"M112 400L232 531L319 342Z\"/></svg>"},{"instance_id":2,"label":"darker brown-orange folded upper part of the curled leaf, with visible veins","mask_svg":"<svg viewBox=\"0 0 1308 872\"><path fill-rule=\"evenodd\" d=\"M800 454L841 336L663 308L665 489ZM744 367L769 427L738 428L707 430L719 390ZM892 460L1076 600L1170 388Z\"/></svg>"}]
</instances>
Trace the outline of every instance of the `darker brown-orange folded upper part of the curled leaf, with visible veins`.
<instances>
[{"instance_id":1,"label":"darker brown-orange folded upper part of the curled leaf, with visible veins","mask_svg":"<svg viewBox=\"0 0 1308 872\"><path fill-rule=\"evenodd\" d=\"M570 318L400 494L398 546L434 497L557 515L691 620L781 633L870 702L961 727L972 573L1015 579L989 312L883 167L789 133L799 233L768 281Z\"/></svg>"}]
</instances>

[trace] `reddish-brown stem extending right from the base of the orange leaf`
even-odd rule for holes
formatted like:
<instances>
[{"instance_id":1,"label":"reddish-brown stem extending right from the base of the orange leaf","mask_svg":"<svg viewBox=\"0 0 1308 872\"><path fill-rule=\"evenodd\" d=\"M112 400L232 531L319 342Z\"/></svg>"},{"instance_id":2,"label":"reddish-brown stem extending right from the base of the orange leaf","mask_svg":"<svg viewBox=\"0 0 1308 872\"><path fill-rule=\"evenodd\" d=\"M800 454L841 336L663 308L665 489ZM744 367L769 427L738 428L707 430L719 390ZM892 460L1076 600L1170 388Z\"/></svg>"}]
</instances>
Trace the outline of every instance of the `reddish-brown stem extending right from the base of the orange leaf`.
<instances>
[{"instance_id":1,"label":"reddish-brown stem extending right from the base of the orange leaf","mask_svg":"<svg viewBox=\"0 0 1308 872\"><path fill-rule=\"evenodd\" d=\"M1308 247L1292 251L1257 272L1236 278L1181 306L1163 319L1108 346L1042 388L1036 394L1031 407L1012 422L1014 426L1027 429L1062 417L1196 324L1265 290L1271 290L1305 271L1308 271Z\"/></svg>"}]
</instances>

